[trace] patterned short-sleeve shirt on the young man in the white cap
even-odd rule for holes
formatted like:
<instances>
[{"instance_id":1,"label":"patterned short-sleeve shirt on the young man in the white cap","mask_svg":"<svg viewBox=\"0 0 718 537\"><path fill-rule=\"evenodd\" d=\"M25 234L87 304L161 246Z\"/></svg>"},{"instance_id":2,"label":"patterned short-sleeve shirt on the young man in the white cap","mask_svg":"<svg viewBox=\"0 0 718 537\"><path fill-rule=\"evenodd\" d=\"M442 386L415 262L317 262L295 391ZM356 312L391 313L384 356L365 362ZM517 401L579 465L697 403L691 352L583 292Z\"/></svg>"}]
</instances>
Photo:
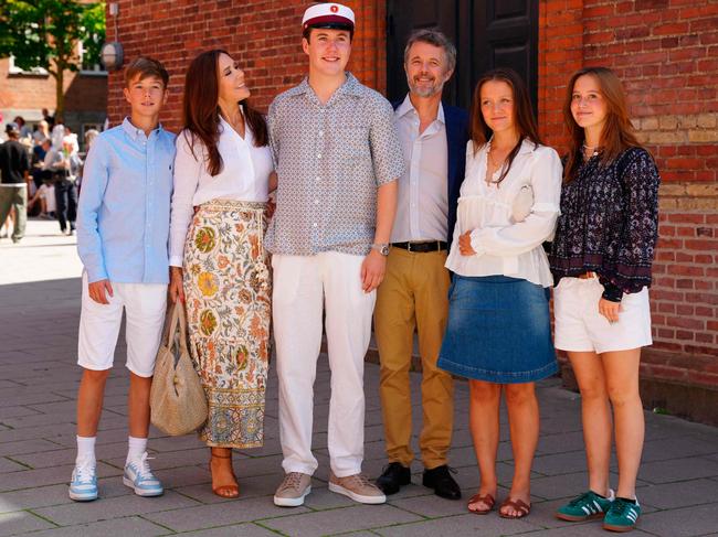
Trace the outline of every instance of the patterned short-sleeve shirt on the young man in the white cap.
<instances>
[{"instance_id":1,"label":"patterned short-sleeve shirt on the young man in the white cap","mask_svg":"<svg viewBox=\"0 0 718 537\"><path fill-rule=\"evenodd\" d=\"M277 207L265 245L273 254L367 255L374 238L377 189L404 168L393 109L347 73L321 104L305 78L270 107Z\"/></svg>"}]
</instances>

